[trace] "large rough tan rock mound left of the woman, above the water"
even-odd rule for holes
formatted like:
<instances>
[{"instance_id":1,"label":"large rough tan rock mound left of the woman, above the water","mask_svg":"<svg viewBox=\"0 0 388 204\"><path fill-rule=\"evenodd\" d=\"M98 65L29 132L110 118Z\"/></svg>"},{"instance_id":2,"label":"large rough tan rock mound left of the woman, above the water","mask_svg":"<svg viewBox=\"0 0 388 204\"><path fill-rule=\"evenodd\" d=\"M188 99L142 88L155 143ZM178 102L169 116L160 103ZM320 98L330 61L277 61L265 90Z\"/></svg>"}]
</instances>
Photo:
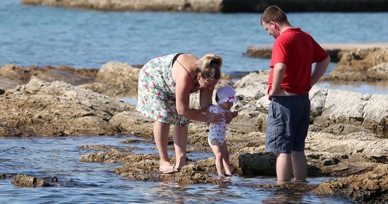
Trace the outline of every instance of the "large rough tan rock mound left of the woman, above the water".
<instances>
[{"instance_id":1,"label":"large rough tan rock mound left of the woman, above the water","mask_svg":"<svg viewBox=\"0 0 388 204\"><path fill-rule=\"evenodd\" d=\"M0 96L3 137L113 135L109 120L129 104L62 81L31 79Z\"/></svg>"}]
</instances>

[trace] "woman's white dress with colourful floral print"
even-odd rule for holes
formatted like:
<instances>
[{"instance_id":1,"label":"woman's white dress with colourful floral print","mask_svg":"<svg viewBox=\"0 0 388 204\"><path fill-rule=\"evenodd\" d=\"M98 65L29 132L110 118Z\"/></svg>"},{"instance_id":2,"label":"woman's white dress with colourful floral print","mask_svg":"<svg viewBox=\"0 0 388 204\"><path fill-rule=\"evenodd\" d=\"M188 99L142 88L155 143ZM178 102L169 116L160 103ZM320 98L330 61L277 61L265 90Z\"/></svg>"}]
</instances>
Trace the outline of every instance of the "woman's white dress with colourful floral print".
<instances>
[{"instance_id":1,"label":"woman's white dress with colourful floral print","mask_svg":"<svg viewBox=\"0 0 388 204\"><path fill-rule=\"evenodd\" d=\"M171 67L177 54L152 59L140 70L136 110L156 121L187 127L189 119L178 115L175 104Z\"/></svg>"}]
</instances>

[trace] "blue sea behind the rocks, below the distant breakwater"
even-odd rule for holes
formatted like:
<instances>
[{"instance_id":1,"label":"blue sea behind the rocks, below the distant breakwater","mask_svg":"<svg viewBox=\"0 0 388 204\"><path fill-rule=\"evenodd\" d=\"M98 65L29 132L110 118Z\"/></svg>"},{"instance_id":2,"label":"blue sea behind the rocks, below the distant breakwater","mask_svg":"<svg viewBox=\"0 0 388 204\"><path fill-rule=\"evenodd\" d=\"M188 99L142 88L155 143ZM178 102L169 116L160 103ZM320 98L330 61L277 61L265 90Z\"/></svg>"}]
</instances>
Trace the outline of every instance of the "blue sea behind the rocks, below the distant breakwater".
<instances>
[{"instance_id":1,"label":"blue sea behind the rocks, below the distant breakwater","mask_svg":"<svg viewBox=\"0 0 388 204\"><path fill-rule=\"evenodd\" d=\"M99 69L109 61L145 64L170 53L213 52L223 57L223 72L247 74L268 69L269 59L243 56L249 45L274 41L260 17L261 13L101 12L2 0L0 65ZM388 42L388 27L381 26L388 24L387 12L289 13L288 18L319 43ZM331 64L328 72L335 66ZM376 89L373 84L341 88L371 94Z\"/></svg>"}]
</instances>

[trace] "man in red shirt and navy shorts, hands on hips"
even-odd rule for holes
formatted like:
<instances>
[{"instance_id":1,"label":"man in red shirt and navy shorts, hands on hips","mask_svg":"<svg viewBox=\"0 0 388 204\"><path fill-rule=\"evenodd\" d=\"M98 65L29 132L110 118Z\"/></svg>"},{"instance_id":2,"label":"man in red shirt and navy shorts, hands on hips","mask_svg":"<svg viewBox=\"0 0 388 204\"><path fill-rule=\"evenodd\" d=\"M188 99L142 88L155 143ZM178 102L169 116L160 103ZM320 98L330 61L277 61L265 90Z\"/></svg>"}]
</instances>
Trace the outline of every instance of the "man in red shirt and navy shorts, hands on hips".
<instances>
[{"instance_id":1,"label":"man in red shirt and navy shorts, hands on hips","mask_svg":"<svg viewBox=\"0 0 388 204\"><path fill-rule=\"evenodd\" d=\"M307 160L304 146L310 124L308 92L325 74L330 57L309 33L292 27L286 14L277 6L268 7L260 21L268 35L275 38L268 78L271 102L266 151L277 153L278 182L290 181L292 175L295 181L305 181Z\"/></svg>"}]
</instances>

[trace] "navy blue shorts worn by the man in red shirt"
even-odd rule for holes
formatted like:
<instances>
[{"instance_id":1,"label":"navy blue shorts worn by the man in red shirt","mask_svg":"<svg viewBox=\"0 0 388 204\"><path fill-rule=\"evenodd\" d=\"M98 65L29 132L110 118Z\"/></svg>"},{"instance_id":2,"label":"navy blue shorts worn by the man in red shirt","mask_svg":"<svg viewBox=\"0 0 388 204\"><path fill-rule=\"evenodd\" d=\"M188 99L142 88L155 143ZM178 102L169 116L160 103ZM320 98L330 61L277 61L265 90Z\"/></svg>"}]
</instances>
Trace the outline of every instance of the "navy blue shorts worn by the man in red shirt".
<instances>
[{"instance_id":1,"label":"navy blue shorts worn by the man in red shirt","mask_svg":"<svg viewBox=\"0 0 388 204\"><path fill-rule=\"evenodd\" d=\"M304 151L309 125L308 94L274 96L268 108L265 150L286 154Z\"/></svg>"}]
</instances>

